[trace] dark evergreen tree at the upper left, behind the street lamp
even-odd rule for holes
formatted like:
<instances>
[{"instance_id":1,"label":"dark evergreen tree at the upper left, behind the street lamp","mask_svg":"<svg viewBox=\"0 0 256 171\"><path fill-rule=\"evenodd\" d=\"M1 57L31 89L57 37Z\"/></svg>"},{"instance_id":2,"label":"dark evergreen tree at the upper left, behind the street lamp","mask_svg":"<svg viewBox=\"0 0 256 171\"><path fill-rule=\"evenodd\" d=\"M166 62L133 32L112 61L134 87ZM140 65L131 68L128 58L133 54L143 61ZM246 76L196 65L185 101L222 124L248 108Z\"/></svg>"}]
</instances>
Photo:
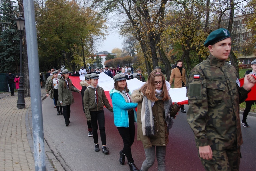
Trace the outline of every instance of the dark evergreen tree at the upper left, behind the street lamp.
<instances>
[{"instance_id":1,"label":"dark evergreen tree at the upper left, behind the street lamp","mask_svg":"<svg viewBox=\"0 0 256 171\"><path fill-rule=\"evenodd\" d=\"M0 2L0 73L18 73L19 35L16 26L17 6L11 0Z\"/></svg>"}]
</instances>

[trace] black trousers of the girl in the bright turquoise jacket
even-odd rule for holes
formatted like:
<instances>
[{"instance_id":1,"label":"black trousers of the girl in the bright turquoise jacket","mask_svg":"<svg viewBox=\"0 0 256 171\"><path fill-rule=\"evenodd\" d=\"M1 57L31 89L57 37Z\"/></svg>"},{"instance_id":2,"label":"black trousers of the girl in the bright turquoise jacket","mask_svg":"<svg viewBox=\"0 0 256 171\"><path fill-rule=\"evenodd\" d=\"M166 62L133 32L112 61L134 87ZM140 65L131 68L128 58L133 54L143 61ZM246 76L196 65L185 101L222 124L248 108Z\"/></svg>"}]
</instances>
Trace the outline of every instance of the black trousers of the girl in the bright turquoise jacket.
<instances>
[{"instance_id":1,"label":"black trousers of the girl in the bright turquoise jacket","mask_svg":"<svg viewBox=\"0 0 256 171\"><path fill-rule=\"evenodd\" d=\"M129 127L117 127L119 134L121 135L124 142L124 152L128 162L134 162L131 154L131 146L135 138L135 125L134 125L134 111L128 111L129 115Z\"/></svg>"}]
</instances>

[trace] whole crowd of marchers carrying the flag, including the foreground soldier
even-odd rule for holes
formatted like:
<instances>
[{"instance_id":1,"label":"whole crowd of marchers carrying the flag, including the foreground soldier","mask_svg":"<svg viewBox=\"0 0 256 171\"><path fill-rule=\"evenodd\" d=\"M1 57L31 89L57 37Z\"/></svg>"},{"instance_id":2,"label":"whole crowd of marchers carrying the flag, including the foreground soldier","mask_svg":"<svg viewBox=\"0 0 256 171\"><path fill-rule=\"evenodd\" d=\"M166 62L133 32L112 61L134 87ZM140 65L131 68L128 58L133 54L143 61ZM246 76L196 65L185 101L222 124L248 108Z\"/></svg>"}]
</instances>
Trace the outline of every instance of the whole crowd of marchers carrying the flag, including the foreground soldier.
<instances>
[{"instance_id":1,"label":"whole crowd of marchers carrying the flag, including the foreground soldier","mask_svg":"<svg viewBox=\"0 0 256 171\"><path fill-rule=\"evenodd\" d=\"M47 78L45 90L47 96L51 92L50 97L56 104L57 115L64 115L66 126L70 124L70 105L74 102L71 91L82 93L88 136L93 137L95 152L100 151L97 133L99 127L102 153L109 153L103 110L105 106L114 113L114 124L123 140L123 149L119 152L120 164L125 164L126 157L131 171L147 171L156 158L158 171L165 171L166 145L173 124L172 118L176 117L180 108L181 112L186 113L184 106L172 103L168 93L174 78L175 88L187 87L187 121L195 134L199 158L204 168L239 170L240 146L243 142L239 103L247 98L247 94L256 83L256 60L252 61L252 70L246 72L244 84L240 86L235 68L225 62L231 50L228 30L221 28L213 31L207 37L204 46L208 47L210 55L191 70L187 84L183 78L185 70L182 61L179 60L177 68L172 71L170 83L165 80L159 66L150 73L147 82L141 69L137 69L137 74L133 76L133 68L128 67L119 71L108 66L105 66L104 70L96 71L88 71L81 67L75 74L85 78L80 82L82 91L73 87L69 79L72 74L68 69L64 69L62 75L52 69L52 76ZM106 98L103 88L98 84L98 74L101 72L114 80L114 88L109 92L113 107ZM134 77L146 83L131 93L126 80ZM246 103L246 108L250 108L253 103ZM249 127L246 112L241 124ZM131 152L136 134L134 122L137 122L137 140L142 142L146 156L140 169L135 165Z\"/></svg>"}]
</instances>

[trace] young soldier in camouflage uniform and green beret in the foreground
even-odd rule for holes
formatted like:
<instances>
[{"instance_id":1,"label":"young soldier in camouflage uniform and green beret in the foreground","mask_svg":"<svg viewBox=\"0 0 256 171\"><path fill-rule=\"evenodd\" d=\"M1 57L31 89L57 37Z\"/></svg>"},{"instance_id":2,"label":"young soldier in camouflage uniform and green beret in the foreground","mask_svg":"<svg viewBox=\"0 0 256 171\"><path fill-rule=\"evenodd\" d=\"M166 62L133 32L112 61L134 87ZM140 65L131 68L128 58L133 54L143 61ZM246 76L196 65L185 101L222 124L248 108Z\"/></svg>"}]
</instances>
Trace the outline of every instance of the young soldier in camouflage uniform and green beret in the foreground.
<instances>
[{"instance_id":1,"label":"young soldier in camouflage uniform and green beret in the foreground","mask_svg":"<svg viewBox=\"0 0 256 171\"><path fill-rule=\"evenodd\" d=\"M243 142L239 103L247 98L256 80L246 75L240 87L236 69L225 62L231 50L228 30L213 31L204 46L210 55L191 70L187 82L187 121L206 170L239 170Z\"/></svg>"}]
</instances>

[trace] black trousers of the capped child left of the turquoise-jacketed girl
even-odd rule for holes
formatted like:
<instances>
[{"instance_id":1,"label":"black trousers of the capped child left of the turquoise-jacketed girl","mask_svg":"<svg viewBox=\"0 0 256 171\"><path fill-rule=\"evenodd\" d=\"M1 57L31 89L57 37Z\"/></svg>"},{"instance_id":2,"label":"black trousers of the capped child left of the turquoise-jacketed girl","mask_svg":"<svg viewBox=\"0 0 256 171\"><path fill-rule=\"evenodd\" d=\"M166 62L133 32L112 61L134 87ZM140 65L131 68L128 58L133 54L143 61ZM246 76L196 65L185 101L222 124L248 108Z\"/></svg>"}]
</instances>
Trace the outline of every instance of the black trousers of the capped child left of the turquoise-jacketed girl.
<instances>
[{"instance_id":1,"label":"black trousers of the capped child left of the turquoise-jacketed girl","mask_svg":"<svg viewBox=\"0 0 256 171\"><path fill-rule=\"evenodd\" d=\"M106 131L105 131L105 114L104 110L90 111L91 127L93 128L93 140L98 144L98 124L100 130L101 145L106 145Z\"/></svg>"}]
</instances>

